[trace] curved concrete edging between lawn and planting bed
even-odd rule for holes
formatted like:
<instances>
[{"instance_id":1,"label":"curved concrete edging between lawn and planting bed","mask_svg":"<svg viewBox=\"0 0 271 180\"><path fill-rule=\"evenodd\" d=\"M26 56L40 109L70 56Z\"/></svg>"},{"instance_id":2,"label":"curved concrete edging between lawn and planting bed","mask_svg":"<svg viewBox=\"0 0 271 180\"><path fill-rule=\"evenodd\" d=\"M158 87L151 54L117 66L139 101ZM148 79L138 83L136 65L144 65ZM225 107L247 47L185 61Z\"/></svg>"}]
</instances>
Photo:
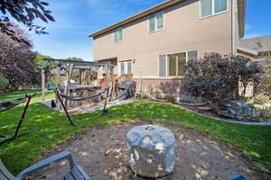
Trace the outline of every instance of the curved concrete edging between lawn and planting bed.
<instances>
[{"instance_id":1,"label":"curved concrete edging between lawn and planting bed","mask_svg":"<svg viewBox=\"0 0 271 180\"><path fill-rule=\"evenodd\" d=\"M145 102L147 102L147 101L145 101ZM163 103L163 102L155 102L155 103ZM243 125L271 126L271 122L249 122L249 121L231 121L231 120L225 120L225 119L222 119L222 118L205 115L205 114L200 113L200 112L195 112L195 111L192 111L190 109L187 109L187 108L182 107L182 106L177 105L177 104L173 104L173 103L167 103L167 104L171 104L171 105L173 105L175 107L180 107L180 108L185 109L185 110L187 110L189 112L193 112L193 113L196 113L198 115L201 115L201 116L204 116L204 117L207 117L207 118L212 118L212 119L215 119L215 120L218 120L218 121L226 121L226 122L230 122L230 123L238 123L238 124L243 124Z\"/></svg>"}]
</instances>

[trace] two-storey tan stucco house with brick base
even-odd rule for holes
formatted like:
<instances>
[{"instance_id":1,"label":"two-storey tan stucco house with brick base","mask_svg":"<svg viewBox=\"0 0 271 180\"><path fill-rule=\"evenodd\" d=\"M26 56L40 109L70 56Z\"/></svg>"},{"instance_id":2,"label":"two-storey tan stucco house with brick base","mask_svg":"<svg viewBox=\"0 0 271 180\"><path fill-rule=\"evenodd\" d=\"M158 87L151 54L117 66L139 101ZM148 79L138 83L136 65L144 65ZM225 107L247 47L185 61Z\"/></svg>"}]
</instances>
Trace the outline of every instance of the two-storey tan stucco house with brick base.
<instances>
[{"instance_id":1,"label":"two-storey tan stucco house with brick base","mask_svg":"<svg viewBox=\"0 0 271 180\"><path fill-rule=\"evenodd\" d=\"M145 91L182 94L188 60L237 54L245 15L246 0L165 1L89 35L93 58L117 63L115 73L133 74Z\"/></svg>"}]
</instances>

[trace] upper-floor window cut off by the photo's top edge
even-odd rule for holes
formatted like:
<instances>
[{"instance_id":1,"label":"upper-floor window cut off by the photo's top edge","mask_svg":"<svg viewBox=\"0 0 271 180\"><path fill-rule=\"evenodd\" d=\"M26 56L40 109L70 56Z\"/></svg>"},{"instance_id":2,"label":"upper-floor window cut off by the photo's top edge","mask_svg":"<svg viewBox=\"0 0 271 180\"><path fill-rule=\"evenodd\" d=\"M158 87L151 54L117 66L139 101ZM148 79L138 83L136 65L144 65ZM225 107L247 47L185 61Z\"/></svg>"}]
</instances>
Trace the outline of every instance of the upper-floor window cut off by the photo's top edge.
<instances>
[{"instance_id":1,"label":"upper-floor window cut off by the photo's top edge","mask_svg":"<svg viewBox=\"0 0 271 180\"><path fill-rule=\"evenodd\" d=\"M228 0L201 0L201 17L227 11Z\"/></svg>"}]
</instances>

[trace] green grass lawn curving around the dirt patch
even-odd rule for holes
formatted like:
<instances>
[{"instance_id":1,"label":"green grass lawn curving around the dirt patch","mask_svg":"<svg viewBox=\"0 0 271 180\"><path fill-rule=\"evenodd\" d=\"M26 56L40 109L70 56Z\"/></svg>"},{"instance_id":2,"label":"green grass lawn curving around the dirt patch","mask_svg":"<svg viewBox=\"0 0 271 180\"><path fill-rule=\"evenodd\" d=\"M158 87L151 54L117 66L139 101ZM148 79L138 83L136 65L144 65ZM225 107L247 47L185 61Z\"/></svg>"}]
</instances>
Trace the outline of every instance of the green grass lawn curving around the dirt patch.
<instances>
[{"instance_id":1,"label":"green grass lawn curving around the dirt patch","mask_svg":"<svg viewBox=\"0 0 271 180\"><path fill-rule=\"evenodd\" d=\"M20 97L23 93L0 94L0 101ZM33 91L28 93L33 93ZM96 124L135 119L182 123L242 149L258 166L271 171L270 126L248 126L217 121L168 104L136 102L110 108L109 116L97 116L100 114L99 111L74 115L72 116L74 121L88 120L80 123L78 128L74 128L65 123L67 120L64 114L52 111L49 107L39 103L40 97L41 94L37 94L33 99L26 121L23 122L23 130L39 131L0 146L0 157L14 175L38 161L42 151L51 149L80 130L89 129ZM47 97L52 97L52 94L47 94ZM13 133L12 130L14 130L22 109L23 105L19 105L6 112L0 112L0 124L11 123L11 125L0 128L0 134Z\"/></svg>"}]
</instances>

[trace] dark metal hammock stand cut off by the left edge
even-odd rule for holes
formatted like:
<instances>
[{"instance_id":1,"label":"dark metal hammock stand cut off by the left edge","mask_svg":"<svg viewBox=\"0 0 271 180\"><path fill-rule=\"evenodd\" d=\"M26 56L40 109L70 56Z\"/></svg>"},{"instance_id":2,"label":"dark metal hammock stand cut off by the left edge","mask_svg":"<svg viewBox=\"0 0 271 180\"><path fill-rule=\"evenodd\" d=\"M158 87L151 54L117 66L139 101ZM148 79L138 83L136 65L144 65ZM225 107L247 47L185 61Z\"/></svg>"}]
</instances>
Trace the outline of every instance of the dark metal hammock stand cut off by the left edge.
<instances>
[{"instance_id":1,"label":"dark metal hammock stand cut off by the left edge","mask_svg":"<svg viewBox=\"0 0 271 180\"><path fill-rule=\"evenodd\" d=\"M13 139L16 139L18 137L21 137L21 136L24 136L24 135L27 135L33 131L37 131L37 130L30 130L30 131L26 131L26 132L23 132L22 134L19 134L19 130L21 129L22 127L22 124L23 124L23 120L25 118L25 114L27 112L27 109L29 107L29 103L31 102L33 96L35 96L36 94L33 94L33 95L30 95L30 94L25 94L25 98L20 98L20 99L16 99L14 101L11 101L11 102L3 102L1 103L1 111L5 111L5 110L8 110L8 109L11 109L13 108L15 105L18 105L20 103L23 103L25 102L25 99L26 99L26 104L23 108L23 112L22 112L22 116L21 116L21 119L20 121L18 121L18 124L17 124L17 127L16 127L16 130L14 132L14 136L6 136L6 135L2 135L0 134L0 138L5 138L4 140L0 141L0 145L1 144L4 144L5 142L8 142L10 140L13 140ZM5 108L4 108L5 107ZM6 125L6 124L5 124ZM0 125L1 127L5 126L5 125Z\"/></svg>"}]
</instances>

